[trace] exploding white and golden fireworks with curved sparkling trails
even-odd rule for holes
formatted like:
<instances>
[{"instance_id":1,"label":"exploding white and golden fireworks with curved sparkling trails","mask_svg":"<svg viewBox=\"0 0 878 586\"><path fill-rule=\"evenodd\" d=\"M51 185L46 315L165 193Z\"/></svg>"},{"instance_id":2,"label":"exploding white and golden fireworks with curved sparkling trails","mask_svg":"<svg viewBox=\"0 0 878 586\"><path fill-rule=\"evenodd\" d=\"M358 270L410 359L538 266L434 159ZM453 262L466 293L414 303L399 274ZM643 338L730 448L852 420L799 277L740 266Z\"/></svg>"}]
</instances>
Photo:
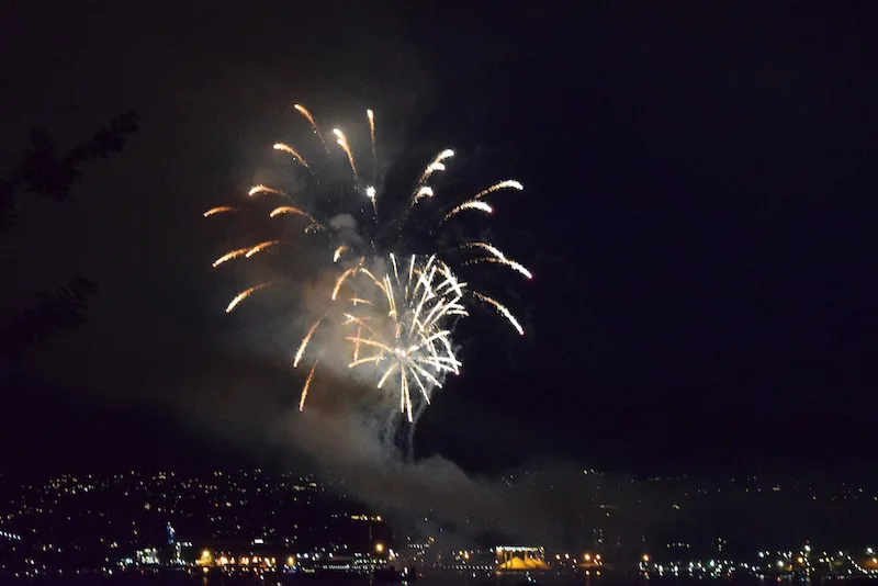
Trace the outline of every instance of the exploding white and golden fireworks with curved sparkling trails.
<instances>
[{"instance_id":1,"label":"exploding white and golden fireworks with curved sparkling trails","mask_svg":"<svg viewBox=\"0 0 878 586\"><path fill-rule=\"evenodd\" d=\"M294 108L305 117L313 134L317 135L326 157L329 157L329 148L311 112L300 104L294 104ZM375 116L372 110L367 111L367 120L374 162ZM304 232L319 233L318 236L308 238L322 238L315 246L326 247L326 270L334 273L333 284L326 290L328 311L308 328L292 360L295 368L303 362L309 363L300 397L300 409L306 404L317 365L339 363L340 358L361 380L371 381L378 396L398 395L398 401L394 399L393 404L398 405L398 410L413 421L418 410L417 405L429 405L432 393L442 387L444 379L460 372L462 362L454 353L452 333L458 320L470 315L473 305L494 309L519 335L524 335L520 323L505 305L460 281L452 267L465 270L463 268L471 264L494 263L528 279L532 278L530 271L507 258L489 243L464 240L452 247L438 244L439 237L444 235L440 228L451 223L461 212L473 210L492 214L493 206L484 201L487 195L505 189L520 191L524 187L518 181L505 180L469 198L447 200L439 196L430 183L437 173L447 171L449 160L454 157L453 150L444 149L418 176L412 194L401 206L399 213L391 214L385 221L378 214L379 189L360 181L352 144L341 129L334 128L333 134L347 158L347 177L350 178L348 192L352 191L358 196L345 195L342 190L334 209L327 212L305 205L299 201L301 198L291 196L275 187L257 184L248 192L250 198L280 196L288 200L288 204L271 209L268 216L289 216L290 222L294 218L305 219L307 224ZM294 164L303 167L304 172L319 185L316 182L322 169L319 157L308 151L308 162L295 147L285 143L275 143L273 148L290 155ZM372 180L376 177L378 172L374 170ZM358 199L369 203L363 206L357 203ZM430 205L425 205L426 200L430 200ZM434 202L438 203L438 209ZM434 217L432 224L421 223L415 229L420 235L430 235L431 238L436 235L426 255L412 253L416 246L413 238L406 237L408 224L414 223L412 217L419 213L416 209L421 207ZM235 207L218 206L205 212L204 216L235 211ZM358 215L361 218L363 215L368 217L359 226L353 219L354 228L350 227L350 221L339 219ZM370 233L360 234L365 229ZM234 259L249 259L270 250L284 250L286 248L282 245L289 244L283 239L257 241L221 256L213 266L218 267ZM424 249L423 246L418 248ZM235 309L257 291L284 281L288 279L274 279L246 289L232 300L226 312ZM317 334L324 330L328 330L328 334ZM327 335L335 341L327 343ZM317 349L312 352L314 345ZM338 353L339 348L346 348L347 357L335 356L334 360L328 360L331 356L328 352Z\"/></svg>"}]
</instances>

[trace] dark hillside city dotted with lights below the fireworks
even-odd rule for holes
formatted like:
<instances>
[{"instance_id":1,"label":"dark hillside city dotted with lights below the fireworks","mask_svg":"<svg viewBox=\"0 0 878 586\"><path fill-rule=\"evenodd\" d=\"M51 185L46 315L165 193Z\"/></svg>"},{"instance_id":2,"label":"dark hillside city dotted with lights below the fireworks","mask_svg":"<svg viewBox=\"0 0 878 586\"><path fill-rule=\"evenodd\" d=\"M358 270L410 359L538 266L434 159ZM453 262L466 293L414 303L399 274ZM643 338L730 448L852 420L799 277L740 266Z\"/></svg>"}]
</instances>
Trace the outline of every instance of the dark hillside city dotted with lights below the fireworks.
<instances>
[{"instance_id":1,"label":"dark hillside city dotted with lights below the fireworks","mask_svg":"<svg viewBox=\"0 0 878 586\"><path fill-rule=\"evenodd\" d=\"M530 485L538 515L552 510L545 502L564 499L564 509L554 509L563 519L552 519L551 533L530 533L534 526L527 515L513 511L518 525L507 526L507 532L486 532L484 520L468 527L469 521L428 519L426 509L423 523L387 518L346 496L338 484L260 469L203 474L128 470L65 474L18 487L3 483L0 574L175 566L189 572L257 566L284 573L371 573L397 560L435 572L488 574L527 568L705 577L878 573L875 486L830 482L815 487L756 477L634 482L585 470L581 482L569 483L574 493L585 492L569 499L566 488L559 491L541 473L506 482ZM634 484L638 498L621 496ZM495 497L509 495L497 492ZM819 502L831 503L830 508ZM714 520L693 525L703 519L705 505ZM657 509L667 515L656 515Z\"/></svg>"}]
</instances>

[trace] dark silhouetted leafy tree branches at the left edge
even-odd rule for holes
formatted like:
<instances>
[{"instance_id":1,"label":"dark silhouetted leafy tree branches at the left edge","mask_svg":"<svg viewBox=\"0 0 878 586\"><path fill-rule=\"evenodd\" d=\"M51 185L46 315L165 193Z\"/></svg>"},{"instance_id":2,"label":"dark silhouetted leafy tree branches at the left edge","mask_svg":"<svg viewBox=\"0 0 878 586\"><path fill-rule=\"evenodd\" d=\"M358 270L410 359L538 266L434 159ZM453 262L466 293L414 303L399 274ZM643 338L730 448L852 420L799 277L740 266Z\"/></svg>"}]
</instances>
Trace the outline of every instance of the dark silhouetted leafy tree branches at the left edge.
<instances>
[{"instance_id":1,"label":"dark silhouetted leafy tree branches at the left edge","mask_svg":"<svg viewBox=\"0 0 878 586\"><path fill-rule=\"evenodd\" d=\"M122 114L90 139L60 156L48 132L31 131L31 146L24 158L0 178L0 232L9 229L18 217L16 196L30 194L58 202L69 200L70 189L81 176L81 166L122 150L128 135L137 132L138 122L137 114ZM13 315L0 327L0 352L15 357L55 331L80 325L85 320L86 300L95 292L94 283L77 277L56 291L40 293L33 307Z\"/></svg>"}]
</instances>

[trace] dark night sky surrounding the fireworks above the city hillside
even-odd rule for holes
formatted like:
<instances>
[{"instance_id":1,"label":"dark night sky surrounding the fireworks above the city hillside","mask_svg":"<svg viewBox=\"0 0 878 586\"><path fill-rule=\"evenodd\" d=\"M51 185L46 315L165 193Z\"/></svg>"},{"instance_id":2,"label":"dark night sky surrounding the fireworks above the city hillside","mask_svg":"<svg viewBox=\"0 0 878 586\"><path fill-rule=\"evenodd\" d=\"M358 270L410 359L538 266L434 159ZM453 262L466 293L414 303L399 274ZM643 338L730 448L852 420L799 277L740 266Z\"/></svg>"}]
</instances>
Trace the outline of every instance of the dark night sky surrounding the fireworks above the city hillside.
<instances>
[{"instance_id":1,"label":"dark night sky surrounding the fireworks above the city hillside","mask_svg":"<svg viewBox=\"0 0 878 586\"><path fill-rule=\"evenodd\" d=\"M83 328L3 367L8 467L222 460L240 446L214 428L247 426L205 415L226 398L213 376L295 401L289 349L223 313L236 283L210 270L224 244L201 217L246 191L293 101L333 122L373 108L403 171L450 144L465 176L527 188L496 202L494 230L537 275L505 297L529 334L466 330L421 453L483 471L874 457L867 4L255 4L2 19L2 165L33 126L71 145L143 119L74 202L25 204L1 236L3 308L76 274L100 285Z\"/></svg>"}]
</instances>

